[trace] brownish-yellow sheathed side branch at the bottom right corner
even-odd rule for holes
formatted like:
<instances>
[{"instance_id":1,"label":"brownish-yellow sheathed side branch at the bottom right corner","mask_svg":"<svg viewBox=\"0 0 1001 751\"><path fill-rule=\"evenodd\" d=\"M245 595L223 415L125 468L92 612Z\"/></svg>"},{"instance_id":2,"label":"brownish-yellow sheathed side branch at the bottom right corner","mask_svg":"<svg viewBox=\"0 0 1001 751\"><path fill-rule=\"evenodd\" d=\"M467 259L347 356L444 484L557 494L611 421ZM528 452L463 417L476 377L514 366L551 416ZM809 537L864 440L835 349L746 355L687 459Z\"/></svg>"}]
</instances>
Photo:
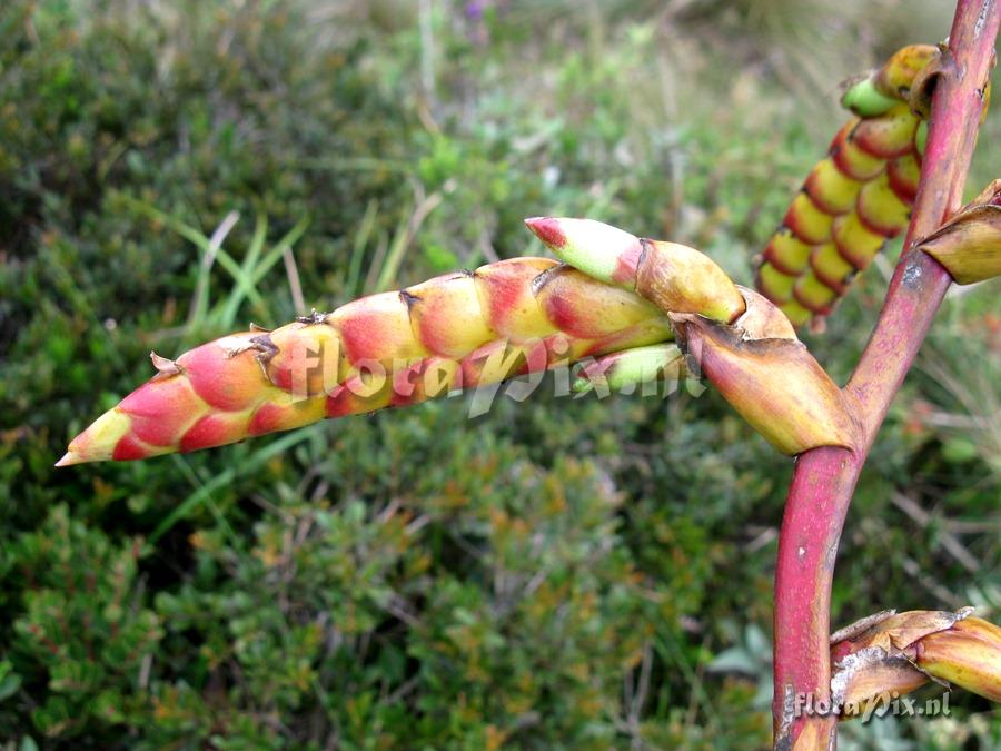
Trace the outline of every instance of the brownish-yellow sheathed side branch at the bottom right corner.
<instances>
[{"instance_id":1,"label":"brownish-yellow sheathed side branch at the bottom right corner","mask_svg":"<svg viewBox=\"0 0 1001 751\"><path fill-rule=\"evenodd\" d=\"M932 680L1001 701L1001 629L972 613L888 611L833 634L833 711L865 714Z\"/></svg>"}]
</instances>

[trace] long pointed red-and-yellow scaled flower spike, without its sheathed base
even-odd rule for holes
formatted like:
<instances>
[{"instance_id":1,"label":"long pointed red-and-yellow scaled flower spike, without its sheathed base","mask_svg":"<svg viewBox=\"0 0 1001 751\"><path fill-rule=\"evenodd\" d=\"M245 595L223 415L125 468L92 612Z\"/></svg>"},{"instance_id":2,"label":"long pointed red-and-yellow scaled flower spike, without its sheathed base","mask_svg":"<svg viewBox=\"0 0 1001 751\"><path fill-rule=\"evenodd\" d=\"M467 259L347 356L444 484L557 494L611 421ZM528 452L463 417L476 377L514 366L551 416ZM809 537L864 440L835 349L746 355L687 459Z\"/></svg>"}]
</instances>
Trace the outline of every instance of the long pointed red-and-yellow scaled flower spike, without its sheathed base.
<instances>
[{"instance_id":1,"label":"long pointed red-and-yellow scaled flower spike, without its sheathed base","mask_svg":"<svg viewBox=\"0 0 1001 751\"><path fill-rule=\"evenodd\" d=\"M220 446L671 338L632 293L547 258L504 260L155 356L158 374L59 464Z\"/></svg>"}]
</instances>

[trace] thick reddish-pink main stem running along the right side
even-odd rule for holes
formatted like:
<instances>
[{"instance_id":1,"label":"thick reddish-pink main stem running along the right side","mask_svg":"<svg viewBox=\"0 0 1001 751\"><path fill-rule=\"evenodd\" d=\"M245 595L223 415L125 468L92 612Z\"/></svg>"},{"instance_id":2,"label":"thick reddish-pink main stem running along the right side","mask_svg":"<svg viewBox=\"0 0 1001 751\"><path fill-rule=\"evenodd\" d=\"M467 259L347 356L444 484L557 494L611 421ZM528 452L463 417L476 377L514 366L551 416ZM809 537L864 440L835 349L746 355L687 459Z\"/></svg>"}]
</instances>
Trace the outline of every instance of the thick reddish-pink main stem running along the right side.
<instances>
[{"instance_id":1,"label":"thick reddish-pink main stem running along the right side","mask_svg":"<svg viewBox=\"0 0 1001 751\"><path fill-rule=\"evenodd\" d=\"M875 434L910 369L951 279L912 249L959 208L990 72L1001 13L995 0L959 0L945 67L935 85L921 184L902 255L845 394L862 435L854 452L806 452L796 467L782 521L775 573L776 749L833 748L834 717L810 715L797 698L830 700L831 584L852 493Z\"/></svg>"}]
</instances>

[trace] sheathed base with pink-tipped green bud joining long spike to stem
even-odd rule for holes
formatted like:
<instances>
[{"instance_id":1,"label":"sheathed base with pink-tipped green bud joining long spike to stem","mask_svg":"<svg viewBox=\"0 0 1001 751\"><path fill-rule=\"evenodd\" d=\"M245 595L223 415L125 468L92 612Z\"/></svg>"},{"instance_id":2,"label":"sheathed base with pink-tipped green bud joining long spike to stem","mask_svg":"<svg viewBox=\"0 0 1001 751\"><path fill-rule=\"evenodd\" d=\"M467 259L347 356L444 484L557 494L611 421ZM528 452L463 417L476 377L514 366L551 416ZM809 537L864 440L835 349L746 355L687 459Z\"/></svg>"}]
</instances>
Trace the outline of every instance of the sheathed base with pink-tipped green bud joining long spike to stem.
<instances>
[{"instance_id":1,"label":"sheathed base with pink-tipped green bud joining long spike to stem","mask_svg":"<svg viewBox=\"0 0 1001 751\"><path fill-rule=\"evenodd\" d=\"M700 372L781 452L855 445L858 425L844 395L789 319L735 285L708 256L591 219L541 217L526 224L563 260L664 310ZM671 367L666 355L658 367ZM618 377L630 369L621 368Z\"/></svg>"}]
</instances>

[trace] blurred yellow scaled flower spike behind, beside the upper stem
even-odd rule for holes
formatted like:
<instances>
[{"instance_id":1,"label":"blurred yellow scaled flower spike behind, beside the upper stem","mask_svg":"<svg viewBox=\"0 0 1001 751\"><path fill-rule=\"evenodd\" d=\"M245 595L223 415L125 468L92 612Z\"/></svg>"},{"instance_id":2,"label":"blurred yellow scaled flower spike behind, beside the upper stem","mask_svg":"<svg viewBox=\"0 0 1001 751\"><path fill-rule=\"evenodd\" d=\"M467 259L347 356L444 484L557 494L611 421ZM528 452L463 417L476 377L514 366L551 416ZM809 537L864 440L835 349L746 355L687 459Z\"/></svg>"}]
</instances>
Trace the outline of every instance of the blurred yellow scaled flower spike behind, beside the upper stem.
<instances>
[{"instance_id":1,"label":"blurred yellow scaled flower spike behind, beside the upper stem","mask_svg":"<svg viewBox=\"0 0 1001 751\"><path fill-rule=\"evenodd\" d=\"M820 326L854 277L908 225L924 132L911 86L939 49L911 45L852 86L855 112L810 172L757 268L759 291L796 326Z\"/></svg>"}]
</instances>

